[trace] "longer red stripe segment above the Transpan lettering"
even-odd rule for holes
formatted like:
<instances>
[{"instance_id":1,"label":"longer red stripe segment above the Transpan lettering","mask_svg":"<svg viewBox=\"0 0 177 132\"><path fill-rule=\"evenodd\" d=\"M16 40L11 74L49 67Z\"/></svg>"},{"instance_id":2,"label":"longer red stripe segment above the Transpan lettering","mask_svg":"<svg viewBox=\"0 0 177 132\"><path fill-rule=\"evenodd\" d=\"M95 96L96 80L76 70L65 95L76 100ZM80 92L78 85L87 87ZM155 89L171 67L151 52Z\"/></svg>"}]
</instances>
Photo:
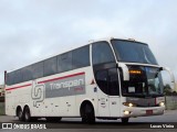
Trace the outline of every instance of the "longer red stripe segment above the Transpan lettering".
<instances>
[{"instance_id":1,"label":"longer red stripe segment above the Transpan lettering","mask_svg":"<svg viewBox=\"0 0 177 132\"><path fill-rule=\"evenodd\" d=\"M80 76L80 75L84 75L85 73L77 73L77 74L73 74L73 75L67 75L67 76L63 76L63 77L56 77L53 79L48 79L48 80L42 80L39 81L38 84L43 84L43 82L49 82L49 81L54 81L54 80L59 80L59 79L65 79L65 78L70 78L70 77L74 77L74 76Z\"/></svg>"}]
</instances>

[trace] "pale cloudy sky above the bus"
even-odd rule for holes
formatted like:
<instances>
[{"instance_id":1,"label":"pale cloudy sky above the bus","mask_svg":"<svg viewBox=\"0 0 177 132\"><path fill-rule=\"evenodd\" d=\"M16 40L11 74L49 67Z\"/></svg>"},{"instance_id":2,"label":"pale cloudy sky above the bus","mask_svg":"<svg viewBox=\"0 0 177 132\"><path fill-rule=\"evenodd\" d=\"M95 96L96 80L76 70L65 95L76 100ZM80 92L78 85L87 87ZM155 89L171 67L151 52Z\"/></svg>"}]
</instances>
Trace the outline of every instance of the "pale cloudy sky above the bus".
<instances>
[{"instance_id":1,"label":"pale cloudy sky above the bus","mask_svg":"<svg viewBox=\"0 0 177 132\"><path fill-rule=\"evenodd\" d=\"M0 0L0 84L4 70L111 36L147 43L177 78L176 7L176 0Z\"/></svg>"}]
</instances>

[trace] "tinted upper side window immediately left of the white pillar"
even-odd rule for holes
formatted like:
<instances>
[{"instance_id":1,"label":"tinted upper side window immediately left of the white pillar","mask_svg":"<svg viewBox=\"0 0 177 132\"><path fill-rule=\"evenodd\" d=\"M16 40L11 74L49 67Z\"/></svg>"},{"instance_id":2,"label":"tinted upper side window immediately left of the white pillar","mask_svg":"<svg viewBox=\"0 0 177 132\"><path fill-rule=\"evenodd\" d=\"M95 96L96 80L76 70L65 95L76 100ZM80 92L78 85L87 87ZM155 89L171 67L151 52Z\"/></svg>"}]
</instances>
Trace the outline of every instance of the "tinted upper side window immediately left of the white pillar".
<instances>
[{"instance_id":1,"label":"tinted upper side window immediately left of the white pillar","mask_svg":"<svg viewBox=\"0 0 177 132\"><path fill-rule=\"evenodd\" d=\"M73 51L73 69L90 65L90 46L80 47Z\"/></svg>"}]
</instances>

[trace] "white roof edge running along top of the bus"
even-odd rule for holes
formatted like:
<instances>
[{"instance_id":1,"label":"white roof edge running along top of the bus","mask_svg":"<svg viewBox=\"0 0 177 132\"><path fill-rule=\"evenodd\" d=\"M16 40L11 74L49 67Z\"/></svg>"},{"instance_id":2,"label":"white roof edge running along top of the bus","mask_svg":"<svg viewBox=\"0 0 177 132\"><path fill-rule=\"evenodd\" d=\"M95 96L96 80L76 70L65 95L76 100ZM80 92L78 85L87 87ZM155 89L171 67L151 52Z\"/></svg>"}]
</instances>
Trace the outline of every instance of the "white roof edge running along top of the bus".
<instances>
[{"instance_id":1,"label":"white roof edge running along top of the bus","mask_svg":"<svg viewBox=\"0 0 177 132\"><path fill-rule=\"evenodd\" d=\"M97 38L97 40L90 40L86 44L83 44L83 45L81 45L81 46L76 46L76 47L74 47L74 48L70 48L70 50L67 50L67 51L63 51L63 52L61 52L61 53L58 53L58 54L51 55L51 56L49 56L49 57L46 57L46 58L42 58L42 59L35 61L35 62L33 62L33 63L30 63L30 64L28 64L28 65L21 66L21 67L19 67L19 68L14 68L14 69L8 70L7 73L11 73L11 72L14 72L14 70L21 69L21 68L23 68L23 67L27 67L27 66L30 66L30 65L33 65L33 64L37 64L37 63L43 62L43 61L45 61L45 59L48 59L48 58L51 58L51 57L54 57L54 56L58 56L58 55L61 55L61 54L67 53L67 52L70 52L70 51L76 50L76 48L82 47L82 46L90 45L90 44L95 43L95 42L102 42L102 41L111 42L112 40L131 41L131 42L137 42L137 43L140 43L140 44L145 44L145 43L142 43L142 42L135 41L134 38L103 37L103 38Z\"/></svg>"}]
</instances>

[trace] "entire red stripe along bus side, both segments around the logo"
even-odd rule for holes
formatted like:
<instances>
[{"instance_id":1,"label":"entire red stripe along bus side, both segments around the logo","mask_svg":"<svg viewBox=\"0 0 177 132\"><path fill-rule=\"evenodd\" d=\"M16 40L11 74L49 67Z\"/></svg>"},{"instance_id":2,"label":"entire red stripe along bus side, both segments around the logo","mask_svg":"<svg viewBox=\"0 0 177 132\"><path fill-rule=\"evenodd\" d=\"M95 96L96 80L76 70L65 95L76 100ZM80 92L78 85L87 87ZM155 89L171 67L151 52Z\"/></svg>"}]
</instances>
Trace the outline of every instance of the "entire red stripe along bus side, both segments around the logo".
<instances>
[{"instance_id":1,"label":"entire red stripe along bus side, both segments around the logo","mask_svg":"<svg viewBox=\"0 0 177 132\"><path fill-rule=\"evenodd\" d=\"M59 80L59 79L65 79L65 78L69 78L69 77L80 76L80 75L84 75L84 74L85 74L84 72L83 73L77 73L77 74L67 75L67 76L63 76L63 77L58 77L58 78L53 78L53 79L42 80L42 81L39 81L38 84L49 82L49 81ZM28 86L32 86L32 84L18 86L18 87L12 87L12 88L7 88L6 90L14 90L14 89L24 88L24 87L28 87Z\"/></svg>"}]
</instances>

